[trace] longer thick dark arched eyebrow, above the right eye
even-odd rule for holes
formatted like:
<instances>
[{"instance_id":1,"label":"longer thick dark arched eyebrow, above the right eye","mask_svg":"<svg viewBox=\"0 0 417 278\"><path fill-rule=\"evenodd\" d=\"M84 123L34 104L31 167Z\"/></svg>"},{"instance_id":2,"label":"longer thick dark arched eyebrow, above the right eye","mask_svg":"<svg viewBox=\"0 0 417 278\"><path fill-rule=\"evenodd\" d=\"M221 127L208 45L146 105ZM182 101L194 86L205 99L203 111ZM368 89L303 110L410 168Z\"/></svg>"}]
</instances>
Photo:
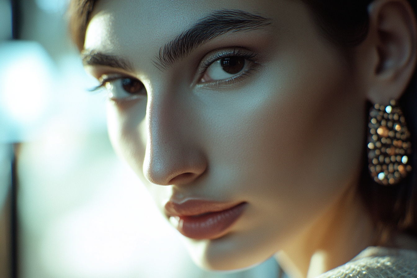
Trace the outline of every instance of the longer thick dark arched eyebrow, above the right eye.
<instances>
[{"instance_id":1,"label":"longer thick dark arched eyebrow, above the right eye","mask_svg":"<svg viewBox=\"0 0 417 278\"><path fill-rule=\"evenodd\" d=\"M242 10L215 11L162 46L153 63L160 70L166 69L176 60L185 58L196 47L219 35L227 32L256 30L271 24L271 22L271 19Z\"/></svg>"}]
</instances>

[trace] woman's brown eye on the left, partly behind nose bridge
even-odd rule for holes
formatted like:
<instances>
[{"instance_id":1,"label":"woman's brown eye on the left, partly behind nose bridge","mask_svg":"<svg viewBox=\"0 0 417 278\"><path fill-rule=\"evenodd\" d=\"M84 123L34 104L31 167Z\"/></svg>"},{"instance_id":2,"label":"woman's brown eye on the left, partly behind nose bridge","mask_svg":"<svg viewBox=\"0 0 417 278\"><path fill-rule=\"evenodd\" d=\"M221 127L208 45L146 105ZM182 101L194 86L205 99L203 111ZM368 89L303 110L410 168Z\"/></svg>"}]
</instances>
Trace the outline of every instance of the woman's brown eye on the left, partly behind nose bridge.
<instances>
[{"instance_id":1,"label":"woman's brown eye on the left, partly behind nose bridge","mask_svg":"<svg viewBox=\"0 0 417 278\"><path fill-rule=\"evenodd\" d=\"M105 87L111 100L133 100L139 96L146 96L143 83L136 78L108 78L102 77L99 87Z\"/></svg>"}]
</instances>

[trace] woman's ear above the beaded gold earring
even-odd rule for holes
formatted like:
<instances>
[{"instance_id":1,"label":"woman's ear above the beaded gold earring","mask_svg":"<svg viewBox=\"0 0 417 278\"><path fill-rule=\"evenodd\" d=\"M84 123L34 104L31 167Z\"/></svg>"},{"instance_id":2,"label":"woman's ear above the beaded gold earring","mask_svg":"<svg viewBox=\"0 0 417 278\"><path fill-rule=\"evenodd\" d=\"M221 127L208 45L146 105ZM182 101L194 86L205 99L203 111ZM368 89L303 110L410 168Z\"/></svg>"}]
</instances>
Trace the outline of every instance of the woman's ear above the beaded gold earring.
<instances>
[{"instance_id":1,"label":"woman's ear above the beaded gold earring","mask_svg":"<svg viewBox=\"0 0 417 278\"><path fill-rule=\"evenodd\" d=\"M401 97L414 73L416 18L407 0L375 0L368 10L369 31L359 51L367 57L358 61L366 71L367 98L387 105Z\"/></svg>"}]
</instances>

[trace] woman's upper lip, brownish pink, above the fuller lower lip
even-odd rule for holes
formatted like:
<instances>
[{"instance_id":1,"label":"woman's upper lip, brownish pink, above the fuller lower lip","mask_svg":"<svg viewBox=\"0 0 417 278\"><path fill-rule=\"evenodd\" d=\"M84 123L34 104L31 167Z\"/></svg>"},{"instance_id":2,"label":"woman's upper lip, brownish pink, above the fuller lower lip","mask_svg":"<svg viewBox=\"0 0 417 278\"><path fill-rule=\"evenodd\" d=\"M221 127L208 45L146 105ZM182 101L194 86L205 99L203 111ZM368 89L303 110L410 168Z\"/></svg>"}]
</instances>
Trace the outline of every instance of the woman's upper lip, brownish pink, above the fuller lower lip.
<instances>
[{"instance_id":1,"label":"woman's upper lip, brownish pink, above the fuller lower lip","mask_svg":"<svg viewBox=\"0 0 417 278\"><path fill-rule=\"evenodd\" d=\"M165 212L170 216L197 216L204 213L219 212L233 208L244 202L219 202L201 199L188 199L180 203L169 200L165 204Z\"/></svg>"}]
</instances>

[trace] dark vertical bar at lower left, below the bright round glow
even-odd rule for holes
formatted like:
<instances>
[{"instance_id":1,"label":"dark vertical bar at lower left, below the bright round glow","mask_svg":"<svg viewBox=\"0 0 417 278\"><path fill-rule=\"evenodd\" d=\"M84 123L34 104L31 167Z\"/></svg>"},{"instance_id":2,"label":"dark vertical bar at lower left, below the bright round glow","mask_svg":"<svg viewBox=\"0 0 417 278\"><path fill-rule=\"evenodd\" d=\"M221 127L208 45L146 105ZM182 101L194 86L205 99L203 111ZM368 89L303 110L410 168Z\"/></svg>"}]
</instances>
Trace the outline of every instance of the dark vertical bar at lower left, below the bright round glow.
<instances>
[{"instance_id":1,"label":"dark vertical bar at lower left, below the bright round glow","mask_svg":"<svg viewBox=\"0 0 417 278\"><path fill-rule=\"evenodd\" d=\"M18 173L16 168L16 144L13 146L12 186L10 192L10 271L11 278L18 278Z\"/></svg>"}]
</instances>

